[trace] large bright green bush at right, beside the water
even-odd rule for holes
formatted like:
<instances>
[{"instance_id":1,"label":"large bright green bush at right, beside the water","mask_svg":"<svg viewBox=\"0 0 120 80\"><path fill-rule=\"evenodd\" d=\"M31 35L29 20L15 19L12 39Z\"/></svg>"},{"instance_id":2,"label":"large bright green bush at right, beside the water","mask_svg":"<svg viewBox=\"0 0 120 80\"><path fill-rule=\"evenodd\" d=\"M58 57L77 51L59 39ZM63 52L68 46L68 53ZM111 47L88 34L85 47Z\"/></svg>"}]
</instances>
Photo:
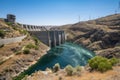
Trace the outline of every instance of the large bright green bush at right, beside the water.
<instances>
[{"instance_id":1,"label":"large bright green bush at right, beside the water","mask_svg":"<svg viewBox=\"0 0 120 80\"><path fill-rule=\"evenodd\" d=\"M109 62L109 59L101 57L101 56L96 56L90 59L88 62L89 62L89 66L93 70L104 72L104 71L112 69L112 65Z\"/></svg>"}]
</instances>

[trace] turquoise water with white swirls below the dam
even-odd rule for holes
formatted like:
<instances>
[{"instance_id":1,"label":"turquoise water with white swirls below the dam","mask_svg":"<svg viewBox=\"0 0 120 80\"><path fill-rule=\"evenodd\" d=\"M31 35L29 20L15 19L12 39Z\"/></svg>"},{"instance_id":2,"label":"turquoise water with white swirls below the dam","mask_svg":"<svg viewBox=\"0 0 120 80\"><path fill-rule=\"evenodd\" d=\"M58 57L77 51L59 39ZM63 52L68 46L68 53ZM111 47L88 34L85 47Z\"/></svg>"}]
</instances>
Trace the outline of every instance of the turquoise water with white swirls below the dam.
<instances>
[{"instance_id":1,"label":"turquoise water with white swirls below the dam","mask_svg":"<svg viewBox=\"0 0 120 80\"><path fill-rule=\"evenodd\" d=\"M84 66L94 56L95 54L92 51L80 45L65 43L52 48L31 69L25 72L29 75L37 70L45 70L47 67L52 68L56 63L59 63L61 68L64 68L68 64L73 67L77 65Z\"/></svg>"}]
</instances>

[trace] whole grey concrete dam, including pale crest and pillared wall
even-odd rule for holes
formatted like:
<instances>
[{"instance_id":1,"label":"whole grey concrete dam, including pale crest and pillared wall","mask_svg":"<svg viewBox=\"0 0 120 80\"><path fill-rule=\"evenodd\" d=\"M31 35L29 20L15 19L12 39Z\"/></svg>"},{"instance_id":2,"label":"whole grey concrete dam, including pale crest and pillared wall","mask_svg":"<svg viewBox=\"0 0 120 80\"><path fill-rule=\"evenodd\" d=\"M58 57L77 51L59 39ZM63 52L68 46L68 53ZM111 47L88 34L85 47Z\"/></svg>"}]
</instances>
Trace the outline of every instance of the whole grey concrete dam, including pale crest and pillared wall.
<instances>
[{"instance_id":1,"label":"whole grey concrete dam, including pale crest and pillared wall","mask_svg":"<svg viewBox=\"0 0 120 80\"><path fill-rule=\"evenodd\" d=\"M21 26L49 47L55 47L65 42L65 32L63 30L48 30L47 27L49 26L26 24L21 24Z\"/></svg>"}]
</instances>

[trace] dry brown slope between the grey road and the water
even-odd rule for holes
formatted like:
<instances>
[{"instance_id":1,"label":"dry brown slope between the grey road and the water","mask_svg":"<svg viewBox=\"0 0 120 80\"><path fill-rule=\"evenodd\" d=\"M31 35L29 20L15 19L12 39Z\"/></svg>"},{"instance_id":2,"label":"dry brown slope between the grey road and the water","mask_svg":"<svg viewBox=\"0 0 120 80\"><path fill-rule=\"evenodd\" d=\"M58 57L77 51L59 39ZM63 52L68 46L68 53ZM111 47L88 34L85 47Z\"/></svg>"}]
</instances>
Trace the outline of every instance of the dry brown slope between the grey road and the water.
<instances>
[{"instance_id":1,"label":"dry brown slope between the grey road and the water","mask_svg":"<svg viewBox=\"0 0 120 80\"><path fill-rule=\"evenodd\" d=\"M12 50L21 50L23 46L33 43L33 40L24 40L19 43L13 43L5 45L0 51L4 54L0 54L1 57L10 56L14 54L13 57L9 58L0 65L0 79L12 80L12 77L18 76L20 73L27 70L30 66L34 65L41 56L45 55L50 49L43 43L39 44L38 50L30 49L29 54L19 53L16 54ZM5 55L9 54L9 55Z\"/></svg>"}]
</instances>

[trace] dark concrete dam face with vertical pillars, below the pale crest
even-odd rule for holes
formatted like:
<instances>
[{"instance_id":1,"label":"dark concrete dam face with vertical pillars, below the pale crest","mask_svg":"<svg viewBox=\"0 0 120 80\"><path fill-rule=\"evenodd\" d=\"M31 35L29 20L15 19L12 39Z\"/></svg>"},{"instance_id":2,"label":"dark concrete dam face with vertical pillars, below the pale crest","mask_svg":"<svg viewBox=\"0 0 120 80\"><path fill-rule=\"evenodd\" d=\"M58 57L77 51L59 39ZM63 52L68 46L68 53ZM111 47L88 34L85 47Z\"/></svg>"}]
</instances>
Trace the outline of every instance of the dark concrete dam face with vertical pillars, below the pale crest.
<instances>
[{"instance_id":1,"label":"dark concrete dam face with vertical pillars, below the pale crest","mask_svg":"<svg viewBox=\"0 0 120 80\"><path fill-rule=\"evenodd\" d=\"M35 35L41 42L49 47L55 47L65 42L64 31L29 31Z\"/></svg>"}]
</instances>

